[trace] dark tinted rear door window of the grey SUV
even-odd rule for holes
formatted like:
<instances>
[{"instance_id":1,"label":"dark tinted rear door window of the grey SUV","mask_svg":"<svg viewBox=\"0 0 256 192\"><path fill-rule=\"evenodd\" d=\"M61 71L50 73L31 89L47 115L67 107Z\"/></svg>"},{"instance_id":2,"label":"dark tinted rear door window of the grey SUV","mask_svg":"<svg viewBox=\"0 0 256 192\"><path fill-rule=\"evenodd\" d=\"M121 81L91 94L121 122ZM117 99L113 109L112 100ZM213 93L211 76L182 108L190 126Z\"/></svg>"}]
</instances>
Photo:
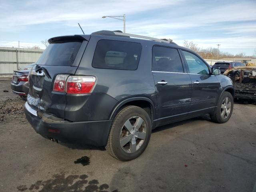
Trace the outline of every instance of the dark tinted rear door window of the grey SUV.
<instances>
[{"instance_id":1,"label":"dark tinted rear door window of the grey SUV","mask_svg":"<svg viewBox=\"0 0 256 192\"><path fill-rule=\"evenodd\" d=\"M184 73L178 50L174 48L154 46L152 70Z\"/></svg>"}]
</instances>

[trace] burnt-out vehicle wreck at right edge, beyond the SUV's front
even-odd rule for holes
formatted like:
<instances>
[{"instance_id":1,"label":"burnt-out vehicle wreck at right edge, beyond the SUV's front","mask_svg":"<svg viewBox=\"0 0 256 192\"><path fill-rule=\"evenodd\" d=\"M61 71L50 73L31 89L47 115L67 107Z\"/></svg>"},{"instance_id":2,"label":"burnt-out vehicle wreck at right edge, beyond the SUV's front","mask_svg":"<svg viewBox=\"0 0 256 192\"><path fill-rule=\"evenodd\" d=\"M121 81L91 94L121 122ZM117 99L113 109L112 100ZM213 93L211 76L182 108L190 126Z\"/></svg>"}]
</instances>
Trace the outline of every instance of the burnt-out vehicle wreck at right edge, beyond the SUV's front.
<instances>
[{"instance_id":1,"label":"burnt-out vehicle wreck at right edge, beyond the SUV's front","mask_svg":"<svg viewBox=\"0 0 256 192\"><path fill-rule=\"evenodd\" d=\"M256 66L234 67L226 70L224 75L234 82L234 98L256 101Z\"/></svg>"}]
</instances>

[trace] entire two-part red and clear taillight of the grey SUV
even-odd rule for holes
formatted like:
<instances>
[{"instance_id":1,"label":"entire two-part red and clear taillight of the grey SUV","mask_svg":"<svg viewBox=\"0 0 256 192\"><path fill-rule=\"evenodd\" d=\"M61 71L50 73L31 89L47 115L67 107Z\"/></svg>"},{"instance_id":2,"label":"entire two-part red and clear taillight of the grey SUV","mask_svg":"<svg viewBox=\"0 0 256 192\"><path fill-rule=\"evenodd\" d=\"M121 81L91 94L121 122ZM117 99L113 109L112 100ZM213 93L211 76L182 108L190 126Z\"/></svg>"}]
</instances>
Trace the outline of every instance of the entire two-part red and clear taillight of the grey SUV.
<instances>
[{"instance_id":1,"label":"entire two-part red and clear taillight of the grey SUV","mask_svg":"<svg viewBox=\"0 0 256 192\"><path fill-rule=\"evenodd\" d=\"M57 75L53 90L70 94L90 93L95 82L94 76Z\"/></svg>"}]
</instances>

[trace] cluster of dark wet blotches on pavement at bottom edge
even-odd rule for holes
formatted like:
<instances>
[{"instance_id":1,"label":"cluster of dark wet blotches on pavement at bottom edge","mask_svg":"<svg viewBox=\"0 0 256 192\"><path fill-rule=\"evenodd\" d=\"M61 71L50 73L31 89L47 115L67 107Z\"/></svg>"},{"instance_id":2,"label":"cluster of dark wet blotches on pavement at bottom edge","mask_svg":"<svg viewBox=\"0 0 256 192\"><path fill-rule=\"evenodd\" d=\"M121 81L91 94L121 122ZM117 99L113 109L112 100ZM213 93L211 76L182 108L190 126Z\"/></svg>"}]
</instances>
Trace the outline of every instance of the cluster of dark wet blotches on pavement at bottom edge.
<instances>
[{"instance_id":1,"label":"cluster of dark wet blotches on pavement at bottom edge","mask_svg":"<svg viewBox=\"0 0 256 192\"><path fill-rule=\"evenodd\" d=\"M31 186L18 186L19 191L25 192L109 192L108 184L100 185L98 180L88 181L88 176L55 174L52 179L46 181L37 181ZM112 192L119 192L114 190Z\"/></svg>"}]
</instances>

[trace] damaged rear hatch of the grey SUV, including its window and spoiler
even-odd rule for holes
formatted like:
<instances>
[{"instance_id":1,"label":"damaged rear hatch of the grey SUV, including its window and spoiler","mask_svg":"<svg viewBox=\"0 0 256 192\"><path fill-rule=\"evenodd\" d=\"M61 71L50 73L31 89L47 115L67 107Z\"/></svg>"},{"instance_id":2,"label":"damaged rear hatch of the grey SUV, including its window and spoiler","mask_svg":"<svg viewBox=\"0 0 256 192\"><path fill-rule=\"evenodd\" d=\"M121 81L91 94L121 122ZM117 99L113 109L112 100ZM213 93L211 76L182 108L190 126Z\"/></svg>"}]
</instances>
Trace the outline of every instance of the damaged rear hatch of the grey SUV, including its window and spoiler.
<instances>
[{"instance_id":1,"label":"damaged rear hatch of the grey SUV, including its window and spoiler","mask_svg":"<svg viewBox=\"0 0 256 192\"><path fill-rule=\"evenodd\" d=\"M64 117L66 93L53 91L54 80L58 74L75 74L89 37L74 35L49 40L50 44L29 74L27 102L32 108Z\"/></svg>"}]
</instances>

